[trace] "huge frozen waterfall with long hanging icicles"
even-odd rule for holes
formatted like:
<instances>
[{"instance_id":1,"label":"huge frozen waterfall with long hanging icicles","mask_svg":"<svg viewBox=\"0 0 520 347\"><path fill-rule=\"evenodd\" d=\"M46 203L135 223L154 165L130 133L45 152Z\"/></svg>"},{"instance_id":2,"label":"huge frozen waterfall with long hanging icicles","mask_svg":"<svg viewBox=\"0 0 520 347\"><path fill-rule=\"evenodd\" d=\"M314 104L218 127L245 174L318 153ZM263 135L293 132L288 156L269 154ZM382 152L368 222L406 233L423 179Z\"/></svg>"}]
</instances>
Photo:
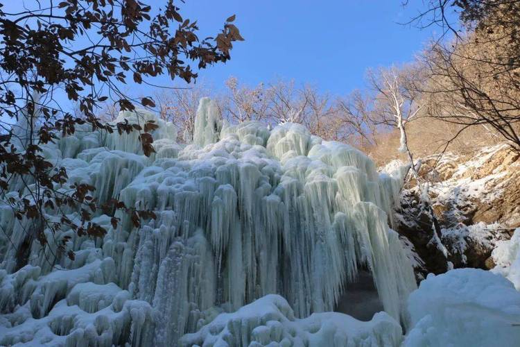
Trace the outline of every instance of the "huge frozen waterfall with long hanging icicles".
<instances>
[{"instance_id":1,"label":"huge frozen waterfall with long hanging icicles","mask_svg":"<svg viewBox=\"0 0 520 347\"><path fill-rule=\"evenodd\" d=\"M139 111L117 120L152 118ZM209 99L200 103L193 144L177 145L173 124L155 121L150 158L137 133L87 126L43 149L67 168L69 183L94 185L99 201L154 210L157 219L140 229L116 212L121 223L114 230L110 216L98 212L96 222L108 230L103 239L47 232L50 245L71 237L76 259L69 260L55 248L42 253L25 232L28 221L0 205L0 345L171 346L198 330L206 339L211 326L222 326L203 328L218 313L267 294L287 302L268 296L252 304L279 310L279 323L254 327L259 343L267 333L295 341L291 334L301 331L298 338L311 344L321 326L352 346L397 344L396 322L406 325L403 304L416 287L389 228L399 179L380 176L360 151L322 141L301 125L226 124ZM20 187L13 182L9 194ZM26 255L17 253L27 244ZM332 311L361 268L372 273L387 314L370 323L315 314ZM341 321L352 331L341 332Z\"/></svg>"}]
</instances>

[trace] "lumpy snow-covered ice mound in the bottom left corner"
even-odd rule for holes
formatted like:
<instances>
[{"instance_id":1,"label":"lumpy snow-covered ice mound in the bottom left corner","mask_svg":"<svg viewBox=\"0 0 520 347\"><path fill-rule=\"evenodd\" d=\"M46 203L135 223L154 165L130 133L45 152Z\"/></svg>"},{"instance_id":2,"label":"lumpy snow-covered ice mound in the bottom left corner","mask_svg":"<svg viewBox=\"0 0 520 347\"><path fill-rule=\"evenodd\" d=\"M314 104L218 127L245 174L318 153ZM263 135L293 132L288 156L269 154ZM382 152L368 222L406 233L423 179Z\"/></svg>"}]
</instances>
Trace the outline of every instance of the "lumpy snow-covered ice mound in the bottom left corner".
<instances>
[{"instance_id":1,"label":"lumpy snow-covered ice mound in the bottom left corner","mask_svg":"<svg viewBox=\"0 0 520 347\"><path fill-rule=\"evenodd\" d=\"M58 301L41 319L34 319L27 305L19 307L16 314L1 316L2 346L119 346L128 340L134 346L146 346L153 332L151 307L121 295L95 313Z\"/></svg>"}]
</instances>

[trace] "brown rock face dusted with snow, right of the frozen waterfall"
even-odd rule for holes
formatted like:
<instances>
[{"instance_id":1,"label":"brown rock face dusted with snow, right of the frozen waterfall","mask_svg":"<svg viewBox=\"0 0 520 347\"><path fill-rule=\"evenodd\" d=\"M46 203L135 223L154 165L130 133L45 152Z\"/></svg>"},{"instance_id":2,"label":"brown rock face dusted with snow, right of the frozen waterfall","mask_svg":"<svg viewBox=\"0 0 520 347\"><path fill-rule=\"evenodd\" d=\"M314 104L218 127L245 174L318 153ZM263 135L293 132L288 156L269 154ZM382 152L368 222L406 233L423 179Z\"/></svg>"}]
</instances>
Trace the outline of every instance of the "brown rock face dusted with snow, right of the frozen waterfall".
<instances>
[{"instance_id":1,"label":"brown rock face dusted with snow, right of the frozen waterfall","mask_svg":"<svg viewBox=\"0 0 520 347\"><path fill-rule=\"evenodd\" d=\"M424 260L425 269L416 272L443 273L449 266L491 269L496 242L509 239L520 226L520 154L507 145L484 148L469 158L448 153L440 160L422 160L419 174L431 182L432 207L448 254L431 244L432 221L410 181L401 192L397 230Z\"/></svg>"}]
</instances>

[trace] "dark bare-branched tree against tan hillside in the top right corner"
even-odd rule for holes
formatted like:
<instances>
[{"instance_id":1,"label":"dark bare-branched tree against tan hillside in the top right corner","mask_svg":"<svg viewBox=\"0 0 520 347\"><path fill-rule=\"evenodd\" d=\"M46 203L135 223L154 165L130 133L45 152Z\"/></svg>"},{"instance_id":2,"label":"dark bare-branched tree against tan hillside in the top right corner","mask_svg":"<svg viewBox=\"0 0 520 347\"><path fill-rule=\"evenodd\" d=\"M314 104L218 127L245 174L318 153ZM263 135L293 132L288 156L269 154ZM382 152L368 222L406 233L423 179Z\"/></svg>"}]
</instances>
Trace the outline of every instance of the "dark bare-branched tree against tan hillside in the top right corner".
<instances>
[{"instance_id":1,"label":"dark bare-branched tree against tan hillside in the top right corner","mask_svg":"<svg viewBox=\"0 0 520 347\"><path fill-rule=\"evenodd\" d=\"M454 10L467 33L449 23ZM455 137L483 127L520 151L520 1L429 0L413 22L455 34L437 40L424 59L431 115L455 124Z\"/></svg>"}]
</instances>

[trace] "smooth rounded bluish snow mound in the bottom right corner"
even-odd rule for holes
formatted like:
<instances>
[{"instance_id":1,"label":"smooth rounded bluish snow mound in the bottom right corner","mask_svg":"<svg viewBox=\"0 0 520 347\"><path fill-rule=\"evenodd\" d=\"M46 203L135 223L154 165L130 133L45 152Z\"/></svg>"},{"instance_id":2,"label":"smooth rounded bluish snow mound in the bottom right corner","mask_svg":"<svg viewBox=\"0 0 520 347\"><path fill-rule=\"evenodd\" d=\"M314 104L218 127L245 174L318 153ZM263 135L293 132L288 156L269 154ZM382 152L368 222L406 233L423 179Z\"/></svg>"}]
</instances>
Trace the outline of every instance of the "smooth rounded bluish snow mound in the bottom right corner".
<instances>
[{"instance_id":1,"label":"smooth rounded bluish snow mound in the bottom right corner","mask_svg":"<svg viewBox=\"0 0 520 347\"><path fill-rule=\"evenodd\" d=\"M404 347L513 347L520 341L520 293L489 271L430 274L410 294L408 310L413 328Z\"/></svg>"}]
</instances>

